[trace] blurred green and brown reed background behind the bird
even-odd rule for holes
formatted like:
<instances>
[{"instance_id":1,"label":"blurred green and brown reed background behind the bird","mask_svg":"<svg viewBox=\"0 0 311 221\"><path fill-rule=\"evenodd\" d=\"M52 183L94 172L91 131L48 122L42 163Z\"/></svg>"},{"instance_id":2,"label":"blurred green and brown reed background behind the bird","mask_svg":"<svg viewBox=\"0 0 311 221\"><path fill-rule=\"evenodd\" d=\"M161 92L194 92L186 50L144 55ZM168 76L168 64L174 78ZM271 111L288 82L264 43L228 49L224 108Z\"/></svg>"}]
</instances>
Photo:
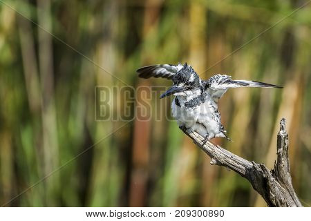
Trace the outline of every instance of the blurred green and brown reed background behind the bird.
<instances>
[{"instance_id":1,"label":"blurred green and brown reed background behind the bird","mask_svg":"<svg viewBox=\"0 0 311 221\"><path fill-rule=\"evenodd\" d=\"M1 205L265 206L242 177L211 166L176 122L156 121L154 113L169 115L169 99L160 108L158 95L146 99L149 121L135 111L130 122L95 120L95 86L169 86L135 70L187 61L203 79L284 86L229 90L220 113L234 142L213 142L271 168L285 117L294 188L309 206L311 3L283 19L305 2L1 0Z\"/></svg>"}]
</instances>

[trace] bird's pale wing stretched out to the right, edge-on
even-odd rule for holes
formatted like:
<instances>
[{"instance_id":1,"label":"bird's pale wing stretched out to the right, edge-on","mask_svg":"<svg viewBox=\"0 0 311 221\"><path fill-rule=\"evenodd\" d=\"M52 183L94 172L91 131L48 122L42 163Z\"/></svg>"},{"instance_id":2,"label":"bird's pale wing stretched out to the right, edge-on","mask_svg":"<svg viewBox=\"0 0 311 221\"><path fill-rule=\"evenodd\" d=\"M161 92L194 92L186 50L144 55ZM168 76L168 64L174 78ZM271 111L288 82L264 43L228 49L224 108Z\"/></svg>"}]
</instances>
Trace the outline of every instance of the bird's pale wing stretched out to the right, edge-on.
<instances>
[{"instance_id":1,"label":"bird's pale wing stretched out to the right, edge-on","mask_svg":"<svg viewBox=\"0 0 311 221\"><path fill-rule=\"evenodd\" d=\"M241 87L254 87L254 88L283 88L274 84L266 84L259 81L245 81L245 80L233 80L228 75L214 75L207 81L205 81L207 93L214 99L214 102L218 102L218 99L223 97L223 94L229 88L241 88Z\"/></svg>"}]
</instances>

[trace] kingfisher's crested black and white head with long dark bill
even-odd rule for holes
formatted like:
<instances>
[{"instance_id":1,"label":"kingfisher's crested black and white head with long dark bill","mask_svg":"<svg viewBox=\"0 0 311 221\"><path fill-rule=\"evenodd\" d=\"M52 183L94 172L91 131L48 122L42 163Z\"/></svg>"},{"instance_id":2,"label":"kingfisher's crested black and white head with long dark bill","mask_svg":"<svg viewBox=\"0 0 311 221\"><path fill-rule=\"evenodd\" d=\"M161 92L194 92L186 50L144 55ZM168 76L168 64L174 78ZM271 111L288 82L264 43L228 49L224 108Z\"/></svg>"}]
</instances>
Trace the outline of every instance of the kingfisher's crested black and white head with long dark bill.
<instances>
[{"instance_id":1,"label":"kingfisher's crested black and white head with long dark bill","mask_svg":"<svg viewBox=\"0 0 311 221\"><path fill-rule=\"evenodd\" d=\"M200 95L201 80L198 74L187 63L173 76L173 86L164 92L160 98L167 97L169 95L176 96L192 96Z\"/></svg>"}]
</instances>

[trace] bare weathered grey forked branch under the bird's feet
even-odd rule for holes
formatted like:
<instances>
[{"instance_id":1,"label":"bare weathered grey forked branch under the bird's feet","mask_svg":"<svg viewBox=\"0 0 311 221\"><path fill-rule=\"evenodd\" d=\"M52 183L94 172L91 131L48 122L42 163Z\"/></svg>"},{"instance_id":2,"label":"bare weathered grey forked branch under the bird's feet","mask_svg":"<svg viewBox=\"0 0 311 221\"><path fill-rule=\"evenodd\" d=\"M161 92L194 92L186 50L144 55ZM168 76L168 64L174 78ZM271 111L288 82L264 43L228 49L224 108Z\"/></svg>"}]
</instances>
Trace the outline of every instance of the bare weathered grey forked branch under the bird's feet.
<instances>
[{"instance_id":1,"label":"bare weathered grey forked branch under the bird's feet","mask_svg":"<svg viewBox=\"0 0 311 221\"><path fill-rule=\"evenodd\" d=\"M231 153L211 142L203 142L198 133L186 133L202 151L211 157L211 164L225 166L245 177L253 188L263 197L268 206L302 206L292 186L290 175L290 159L288 157L288 133L285 129L285 119L281 119L281 128L277 136L277 160L274 169L267 169L264 164L257 164Z\"/></svg>"}]
</instances>

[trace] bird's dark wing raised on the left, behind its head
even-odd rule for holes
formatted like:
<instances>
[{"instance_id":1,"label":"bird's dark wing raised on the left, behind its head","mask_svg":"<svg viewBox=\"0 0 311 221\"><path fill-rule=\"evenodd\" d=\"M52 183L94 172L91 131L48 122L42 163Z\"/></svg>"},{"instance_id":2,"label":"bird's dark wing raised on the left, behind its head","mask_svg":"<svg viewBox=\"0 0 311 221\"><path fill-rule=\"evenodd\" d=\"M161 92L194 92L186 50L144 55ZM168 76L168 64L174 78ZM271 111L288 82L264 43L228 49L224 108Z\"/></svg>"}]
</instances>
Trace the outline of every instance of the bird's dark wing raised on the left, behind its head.
<instances>
[{"instance_id":1,"label":"bird's dark wing raised on the left, behind its head","mask_svg":"<svg viewBox=\"0 0 311 221\"><path fill-rule=\"evenodd\" d=\"M171 79L173 75L178 73L178 70L182 68L182 65L178 63L178 65L173 64L156 64L153 66L145 66L139 68L137 72L139 73L139 77L149 78L149 77L163 77L167 79Z\"/></svg>"}]
</instances>

